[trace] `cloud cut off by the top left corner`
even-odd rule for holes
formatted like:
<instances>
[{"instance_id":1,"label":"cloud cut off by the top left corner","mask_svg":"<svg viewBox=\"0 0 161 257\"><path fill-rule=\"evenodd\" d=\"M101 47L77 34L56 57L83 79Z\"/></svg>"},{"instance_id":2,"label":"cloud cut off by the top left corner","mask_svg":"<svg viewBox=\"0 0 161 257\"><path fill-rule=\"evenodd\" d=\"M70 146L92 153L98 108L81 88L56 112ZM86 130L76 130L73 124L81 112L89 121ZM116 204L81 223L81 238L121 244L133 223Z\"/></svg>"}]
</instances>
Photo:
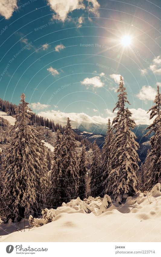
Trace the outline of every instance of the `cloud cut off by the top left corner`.
<instances>
[{"instance_id":1,"label":"cloud cut off by the top left corner","mask_svg":"<svg viewBox=\"0 0 161 257\"><path fill-rule=\"evenodd\" d=\"M0 15L4 16L5 19L9 19L15 9L17 9L17 0L0 1Z\"/></svg>"}]
</instances>

